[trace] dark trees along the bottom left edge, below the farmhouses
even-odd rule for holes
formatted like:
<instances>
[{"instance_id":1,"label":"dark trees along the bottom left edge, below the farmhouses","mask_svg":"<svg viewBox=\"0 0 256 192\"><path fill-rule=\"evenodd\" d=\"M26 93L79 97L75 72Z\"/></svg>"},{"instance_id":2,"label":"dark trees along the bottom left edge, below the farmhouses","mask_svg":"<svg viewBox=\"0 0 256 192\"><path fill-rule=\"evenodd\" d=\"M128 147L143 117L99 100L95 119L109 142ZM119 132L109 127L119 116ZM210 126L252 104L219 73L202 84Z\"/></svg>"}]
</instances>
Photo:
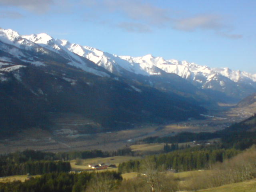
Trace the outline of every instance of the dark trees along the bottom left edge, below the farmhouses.
<instances>
[{"instance_id":1,"label":"dark trees along the bottom left edge, below the farmhouses","mask_svg":"<svg viewBox=\"0 0 256 192\"><path fill-rule=\"evenodd\" d=\"M24 182L0 183L0 192L108 192L120 181L122 177L117 172L48 173ZM102 186L105 186L106 190L98 190L98 187Z\"/></svg>"}]
</instances>

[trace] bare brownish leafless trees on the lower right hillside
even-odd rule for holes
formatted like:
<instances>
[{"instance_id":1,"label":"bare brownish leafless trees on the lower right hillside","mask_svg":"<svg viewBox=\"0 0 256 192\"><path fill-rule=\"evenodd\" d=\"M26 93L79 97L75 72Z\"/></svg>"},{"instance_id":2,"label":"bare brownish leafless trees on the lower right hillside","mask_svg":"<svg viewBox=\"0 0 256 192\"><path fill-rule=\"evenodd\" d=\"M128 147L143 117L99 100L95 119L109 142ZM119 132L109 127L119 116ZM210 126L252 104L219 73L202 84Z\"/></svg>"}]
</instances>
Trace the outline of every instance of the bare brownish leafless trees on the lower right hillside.
<instances>
[{"instance_id":1,"label":"bare brownish leafless trees on the lower right hillside","mask_svg":"<svg viewBox=\"0 0 256 192\"><path fill-rule=\"evenodd\" d=\"M254 145L251 148L244 150L242 153L224 160L223 163L214 164L210 171L192 173L192 178L182 190L197 191L200 189L251 180L256 178L255 167L256 146ZM254 188L255 184L252 189Z\"/></svg>"}]
</instances>

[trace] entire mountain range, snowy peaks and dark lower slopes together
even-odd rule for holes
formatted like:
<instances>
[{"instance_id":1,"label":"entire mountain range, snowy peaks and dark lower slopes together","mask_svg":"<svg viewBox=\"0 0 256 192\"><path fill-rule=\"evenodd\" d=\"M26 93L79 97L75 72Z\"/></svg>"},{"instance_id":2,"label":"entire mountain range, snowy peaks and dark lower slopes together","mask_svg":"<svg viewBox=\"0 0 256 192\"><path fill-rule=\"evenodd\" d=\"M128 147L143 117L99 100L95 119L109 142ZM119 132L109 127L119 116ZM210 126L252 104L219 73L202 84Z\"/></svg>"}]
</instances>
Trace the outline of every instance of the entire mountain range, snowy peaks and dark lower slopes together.
<instances>
[{"instance_id":1,"label":"entire mountain range, snowy peaks and dark lower slopes together","mask_svg":"<svg viewBox=\"0 0 256 192\"><path fill-rule=\"evenodd\" d=\"M200 118L202 106L256 92L256 74L117 56L44 33L0 29L0 91L2 130L45 126L49 112L80 113L109 129Z\"/></svg>"}]
</instances>

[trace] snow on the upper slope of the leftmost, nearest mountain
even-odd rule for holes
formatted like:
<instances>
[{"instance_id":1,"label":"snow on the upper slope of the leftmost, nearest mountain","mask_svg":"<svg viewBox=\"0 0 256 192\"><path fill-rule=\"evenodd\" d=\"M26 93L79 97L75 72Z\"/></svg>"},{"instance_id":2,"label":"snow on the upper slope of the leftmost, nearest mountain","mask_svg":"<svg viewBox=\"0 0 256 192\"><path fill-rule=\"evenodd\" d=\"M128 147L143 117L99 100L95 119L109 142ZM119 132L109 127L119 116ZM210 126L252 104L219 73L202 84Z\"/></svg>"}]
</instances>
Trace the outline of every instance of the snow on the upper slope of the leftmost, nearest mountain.
<instances>
[{"instance_id":1,"label":"snow on the upper slope of the leftmost, nearest mountain","mask_svg":"<svg viewBox=\"0 0 256 192\"><path fill-rule=\"evenodd\" d=\"M86 62L84 58L70 52L65 47L61 46L57 40L54 40L54 38L45 33L20 36L18 32L11 29L0 29L0 42L4 43L0 44L2 50L8 50L8 53L13 57L19 58L24 62L29 62L36 66L43 66L43 60L35 61L34 59L36 58L34 55L29 56L27 52L24 53L22 50L32 50L46 55L53 51L70 60L70 62L67 63L69 65L75 66L98 76L109 76L109 74L100 70L96 65L88 66L88 62ZM13 47L7 46L6 44Z\"/></svg>"}]
</instances>

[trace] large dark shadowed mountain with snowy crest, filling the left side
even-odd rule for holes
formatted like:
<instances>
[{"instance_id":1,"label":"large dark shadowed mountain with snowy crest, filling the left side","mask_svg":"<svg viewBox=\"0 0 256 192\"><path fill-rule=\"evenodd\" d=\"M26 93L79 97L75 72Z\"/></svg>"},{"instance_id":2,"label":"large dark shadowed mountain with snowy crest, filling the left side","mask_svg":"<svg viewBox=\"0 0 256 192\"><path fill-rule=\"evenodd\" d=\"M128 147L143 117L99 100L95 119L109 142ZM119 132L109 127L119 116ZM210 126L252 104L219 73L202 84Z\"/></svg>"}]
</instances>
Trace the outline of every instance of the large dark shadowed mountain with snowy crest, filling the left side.
<instances>
[{"instance_id":1,"label":"large dark shadowed mountain with snowy crest, filling the left side","mask_svg":"<svg viewBox=\"0 0 256 192\"><path fill-rule=\"evenodd\" d=\"M103 52L100 57L100 51L84 48L94 62L100 57L95 64L70 51L72 47L47 34L20 36L0 29L0 136L23 127L46 126L49 113L81 114L97 126L86 124L78 131L97 132L200 118L206 112L194 99L197 89L175 74L168 80L172 76L172 82L182 82L189 91L176 89L171 82L161 84L170 86L169 91L156 89L149 84L159 79L153 80L140 64ZM102 67L107 63L104 59L110 68ZM122 73L134 76L129 79Z\"/></svg>"}]
</instances>

